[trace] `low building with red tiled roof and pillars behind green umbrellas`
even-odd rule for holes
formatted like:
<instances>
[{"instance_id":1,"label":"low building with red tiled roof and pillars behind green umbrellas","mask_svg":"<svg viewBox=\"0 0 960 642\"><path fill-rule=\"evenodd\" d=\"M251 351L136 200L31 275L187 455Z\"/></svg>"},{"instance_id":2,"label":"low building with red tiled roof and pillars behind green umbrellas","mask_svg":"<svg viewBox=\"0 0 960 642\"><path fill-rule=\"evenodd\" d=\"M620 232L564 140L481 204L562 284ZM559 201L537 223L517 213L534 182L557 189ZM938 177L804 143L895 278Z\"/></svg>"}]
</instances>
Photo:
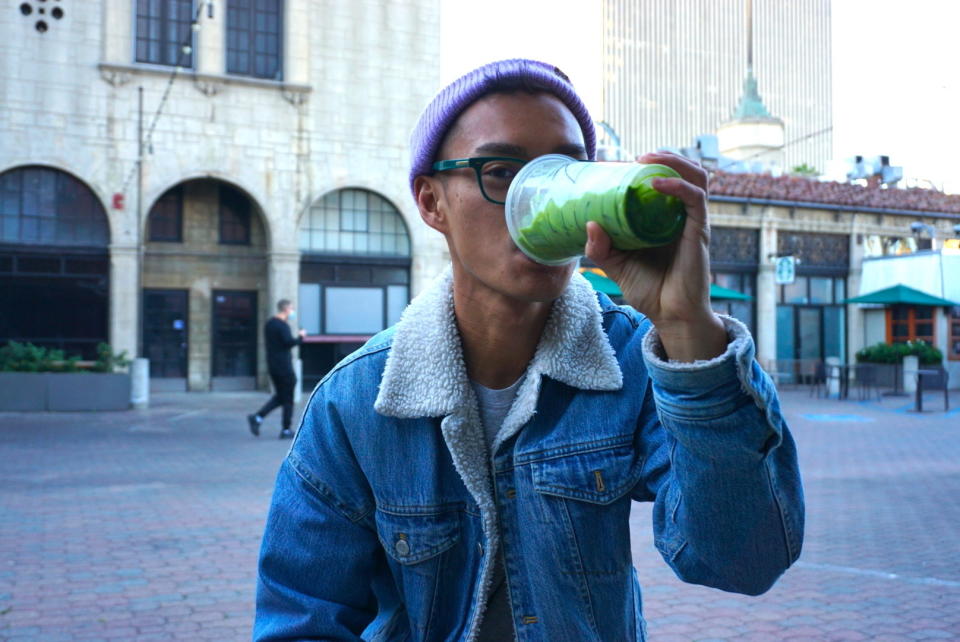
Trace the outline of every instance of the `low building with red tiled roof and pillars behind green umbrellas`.
<instances>
[{"instance_id":1,"label":"low building with red tiled roof and pillars behind green umbrellas","mask_svg":"<svg viewBox=\"0 0 960 642\"><path fill-rule=\"evenodd\" d=\"M752 327L761 363L826 357L853 363L865 345L922 339L943 351L951 387L960 386L960 323L950 322L960 319L960 309L900 306L887 312L843 303L868 291L861 286L864 260L919 257L932 254L924 251L931 245L960 248L960 195L715 172L710 211L714 281L754 297L720 307ZM778 285L774 262L784 256L798 259L796 278ZM907 284L922 288L923 281L914 275ZM929 275L930 284L941 281L960 287L960 273ZM946 297L951 291L932 293ZM931 313L928 325L898 322Z\"/></svg>"}]
</instances>

